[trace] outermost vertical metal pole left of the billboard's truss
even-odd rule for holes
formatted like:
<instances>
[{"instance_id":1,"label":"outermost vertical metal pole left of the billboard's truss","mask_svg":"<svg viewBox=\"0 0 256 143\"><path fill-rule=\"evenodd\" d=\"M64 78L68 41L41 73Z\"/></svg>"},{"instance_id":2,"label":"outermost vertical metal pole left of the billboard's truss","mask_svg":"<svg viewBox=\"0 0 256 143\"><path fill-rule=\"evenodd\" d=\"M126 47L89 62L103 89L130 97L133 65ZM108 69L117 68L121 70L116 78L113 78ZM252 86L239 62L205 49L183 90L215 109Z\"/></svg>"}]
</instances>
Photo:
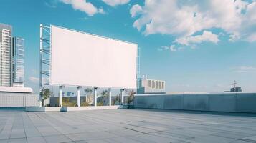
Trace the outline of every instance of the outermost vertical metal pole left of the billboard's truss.
<instances>
[{"instance_id":1,"label":"outermost vertical metal pole left of the billboard's truss","mask_svg":"<svg viewBox=\"0 0 256 143\"><path fill-rule=\"evenodd\" d=\"M43 26L40 24L40 62L39 62L39 92L42 92L42 50L43 50ZM39 94L40 96L40 94ZM39 97L39 107L42 107L42 97Z\"/></svg>"}]
</instances>

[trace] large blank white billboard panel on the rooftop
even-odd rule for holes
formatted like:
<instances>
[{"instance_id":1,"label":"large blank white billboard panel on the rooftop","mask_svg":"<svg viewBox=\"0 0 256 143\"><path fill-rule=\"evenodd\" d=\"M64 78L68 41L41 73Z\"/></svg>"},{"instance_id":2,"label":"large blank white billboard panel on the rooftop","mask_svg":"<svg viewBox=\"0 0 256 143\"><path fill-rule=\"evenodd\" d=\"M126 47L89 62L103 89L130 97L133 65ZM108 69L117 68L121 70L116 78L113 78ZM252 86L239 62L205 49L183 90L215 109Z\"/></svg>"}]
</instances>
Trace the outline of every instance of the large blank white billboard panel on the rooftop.
<instances>
[{"instance_id":1,"label":"large blank white billboard panel on the rooftop","mask_svg":"<svg viewBox=\"0 0 256 143\"><path fill-rule=\"evenodd\" d=\"M50 84L136 89L137 44L51 26Z\"/></svg>"}]
</instances>

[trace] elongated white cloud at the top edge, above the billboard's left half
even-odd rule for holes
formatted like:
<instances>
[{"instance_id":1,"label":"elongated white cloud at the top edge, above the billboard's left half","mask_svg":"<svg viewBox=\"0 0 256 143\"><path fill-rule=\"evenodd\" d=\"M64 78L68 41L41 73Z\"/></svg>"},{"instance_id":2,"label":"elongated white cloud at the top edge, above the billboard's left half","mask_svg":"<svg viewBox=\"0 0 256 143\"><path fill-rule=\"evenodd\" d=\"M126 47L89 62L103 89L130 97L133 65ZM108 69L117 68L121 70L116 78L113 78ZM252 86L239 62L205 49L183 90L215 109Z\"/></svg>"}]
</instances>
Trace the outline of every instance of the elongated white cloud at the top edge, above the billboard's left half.
<instances>
[{"instance_id":1,"label":"elongated white cloud at the top edge, above the billboard's left half","mask_svg":"<svg viewBox=\"0 0 256 143\"><path fill-rule=\"evenodd\" d=\"M60 0L64 4L70 4L73 9L80 10L88 14L88 16L93 16L94 14L100 13L104 14L103 9L98 9L97 7L93 6L90 2L86 0Z\"/></svg>"}]
</instances>

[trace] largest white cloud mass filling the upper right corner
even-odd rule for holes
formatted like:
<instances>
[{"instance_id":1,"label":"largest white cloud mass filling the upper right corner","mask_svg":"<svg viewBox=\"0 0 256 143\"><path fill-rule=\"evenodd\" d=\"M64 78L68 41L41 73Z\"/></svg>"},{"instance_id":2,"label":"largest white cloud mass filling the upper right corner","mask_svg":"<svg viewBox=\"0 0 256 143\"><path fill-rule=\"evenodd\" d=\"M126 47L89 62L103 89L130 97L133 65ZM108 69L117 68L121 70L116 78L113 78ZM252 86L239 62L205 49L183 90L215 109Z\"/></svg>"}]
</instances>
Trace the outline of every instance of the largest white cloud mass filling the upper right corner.
<instances>
[{"instance_id":1,"label":"largest white cloud mass filling the upper right corner","mask_svg":"<svg viewBox=\"0 0 256 143\"><path fill-rule=\"evenodd\" d=\"M141 16L133 26L145 35L170 34L177 39L187 39L217 28L230 35L229 41L256 41L256 1L145 0L141 9ZM131 12L131 16L136 16L136 12ZM214 40L207 41L218 40L215 36Z\"/></svg>"}]
</instances>

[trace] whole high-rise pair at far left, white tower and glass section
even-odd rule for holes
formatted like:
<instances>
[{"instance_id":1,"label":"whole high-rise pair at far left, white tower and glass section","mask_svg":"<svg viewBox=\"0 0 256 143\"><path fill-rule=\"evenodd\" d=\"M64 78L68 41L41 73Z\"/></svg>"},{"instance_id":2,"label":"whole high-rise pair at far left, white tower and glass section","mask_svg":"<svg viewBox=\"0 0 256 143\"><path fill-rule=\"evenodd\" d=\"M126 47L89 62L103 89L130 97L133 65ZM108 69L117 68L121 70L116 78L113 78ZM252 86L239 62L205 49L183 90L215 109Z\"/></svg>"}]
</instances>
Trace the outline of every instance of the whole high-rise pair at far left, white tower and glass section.
<instances>
[{"instance_id":1,"label":"whole high-rise pair at far left, white tower and glass section","mask_svg":"<svg viewBox=\"0 0 256 143\"><path fill-rule=\"evenodd\" d=\"M10 25L0 24L0 86L24 87L24 39L11 33Z\"/></svg>"}]
</instances>

